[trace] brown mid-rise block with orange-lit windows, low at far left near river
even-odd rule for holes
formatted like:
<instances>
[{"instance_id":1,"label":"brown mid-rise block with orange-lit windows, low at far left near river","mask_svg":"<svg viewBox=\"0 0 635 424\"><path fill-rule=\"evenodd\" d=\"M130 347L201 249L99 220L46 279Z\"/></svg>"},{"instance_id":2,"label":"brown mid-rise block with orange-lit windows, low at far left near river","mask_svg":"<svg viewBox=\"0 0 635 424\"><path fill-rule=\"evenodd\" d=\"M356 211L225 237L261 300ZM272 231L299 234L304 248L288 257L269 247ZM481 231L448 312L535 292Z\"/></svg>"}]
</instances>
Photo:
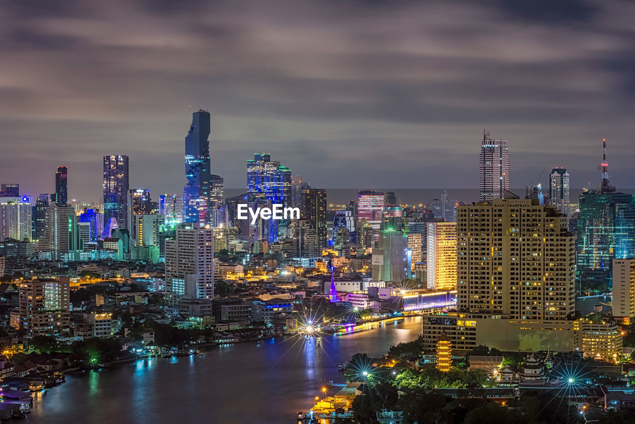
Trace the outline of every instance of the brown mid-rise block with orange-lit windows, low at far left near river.
<instances>
[{"instance_id":1,"label":"brown mid-rise block with orange-lit windows, low at far left near river","mask_svg":"<svg viewBox=\"0 0 635 424\"><path fill-rule=\"evenodd\" d=\"M68 336L70 332L70 280L22 280L19 285L18 329L36 336Z\"/></svg>"}]
</instances>

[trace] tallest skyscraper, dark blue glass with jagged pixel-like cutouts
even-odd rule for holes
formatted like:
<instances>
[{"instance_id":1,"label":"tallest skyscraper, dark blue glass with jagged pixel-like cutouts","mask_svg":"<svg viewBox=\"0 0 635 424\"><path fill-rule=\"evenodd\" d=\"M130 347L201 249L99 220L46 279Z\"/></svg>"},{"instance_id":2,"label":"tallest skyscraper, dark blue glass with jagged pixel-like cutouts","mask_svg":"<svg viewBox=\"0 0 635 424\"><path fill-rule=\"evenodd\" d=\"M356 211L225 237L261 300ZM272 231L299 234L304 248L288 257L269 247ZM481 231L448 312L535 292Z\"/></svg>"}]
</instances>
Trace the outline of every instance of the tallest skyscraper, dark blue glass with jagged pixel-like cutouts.
<instances>
[{"instance_id":1,"label":"tallest skyscraper, dark blue glass with jagged pixel-like cutouts","mask_svg":"<svg viewBox=\"0 0 635 424\"><path fill-rule=\"evenodd\" d=\"M210 224L211 156L210 113L192 113L192 125L185 137L184 222Z\"/></svg>"}]
</instances>

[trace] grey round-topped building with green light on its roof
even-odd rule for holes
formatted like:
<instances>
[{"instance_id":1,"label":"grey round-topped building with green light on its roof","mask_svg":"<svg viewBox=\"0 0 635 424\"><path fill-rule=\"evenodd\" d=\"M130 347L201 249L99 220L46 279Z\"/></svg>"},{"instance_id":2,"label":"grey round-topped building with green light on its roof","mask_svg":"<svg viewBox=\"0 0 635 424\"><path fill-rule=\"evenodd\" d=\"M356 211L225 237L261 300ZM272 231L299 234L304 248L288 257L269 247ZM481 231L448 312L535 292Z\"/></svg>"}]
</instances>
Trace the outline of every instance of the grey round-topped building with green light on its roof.
<instances>
[{"instance_id":1,"label":"grey round-topped building with green light on its roof","mask_svg":"<svg viewBox=\"0 0 635 424\"><path fill-rule=\"evenodd\" d=\"M382 229L377 246L371 259L373 280L399 283L410 278L411 252L408 236L403 231L391 227Z\"/></svg>"}]
</instances>

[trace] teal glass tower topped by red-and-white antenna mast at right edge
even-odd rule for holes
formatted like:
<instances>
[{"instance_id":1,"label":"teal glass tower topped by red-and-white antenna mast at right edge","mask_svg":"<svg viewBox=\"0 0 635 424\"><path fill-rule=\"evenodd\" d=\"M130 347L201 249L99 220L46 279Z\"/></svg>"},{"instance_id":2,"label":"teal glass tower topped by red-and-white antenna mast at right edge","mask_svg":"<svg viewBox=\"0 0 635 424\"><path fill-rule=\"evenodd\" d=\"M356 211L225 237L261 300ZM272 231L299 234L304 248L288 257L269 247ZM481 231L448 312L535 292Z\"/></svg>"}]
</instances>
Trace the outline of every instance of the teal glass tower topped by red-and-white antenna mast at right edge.
<instances>
[{"instance_id":1,"label":"teal glass tower topped by red-and-white antenna mast at right edge","mask_svg":"<svg viewBox=\"0 0 635 424\"><path fill-rule=\"evenodd\" d=\"M635 204L632 195L615 191L606 162L603 140L600 186L580 195L577 220L577 275L582 285L612 280L612 260L626 259L635 252Z\"/></svg>"}]
</instances>

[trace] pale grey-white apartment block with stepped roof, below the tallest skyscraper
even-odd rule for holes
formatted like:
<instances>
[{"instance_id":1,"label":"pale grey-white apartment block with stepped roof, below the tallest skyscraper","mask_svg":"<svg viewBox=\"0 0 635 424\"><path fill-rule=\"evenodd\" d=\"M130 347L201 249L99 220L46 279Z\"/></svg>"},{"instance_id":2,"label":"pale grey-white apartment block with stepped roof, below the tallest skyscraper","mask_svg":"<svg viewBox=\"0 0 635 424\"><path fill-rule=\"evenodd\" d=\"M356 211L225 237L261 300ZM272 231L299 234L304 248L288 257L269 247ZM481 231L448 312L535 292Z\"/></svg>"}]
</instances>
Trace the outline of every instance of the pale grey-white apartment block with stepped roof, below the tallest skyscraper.
<instances>
[{"instance_id":1,"label":"pale grey-white apartment block with stepped roof, below the tallest skyscraper","mask_svg":"<svg viewBox=\"0 0 635 424\"><path fill-rule=\"evenodd\" d=\"M214 229L177 228L165 241L165 285L170 304L178 299L214 298Z\"/></svg>"}]
</instances>

